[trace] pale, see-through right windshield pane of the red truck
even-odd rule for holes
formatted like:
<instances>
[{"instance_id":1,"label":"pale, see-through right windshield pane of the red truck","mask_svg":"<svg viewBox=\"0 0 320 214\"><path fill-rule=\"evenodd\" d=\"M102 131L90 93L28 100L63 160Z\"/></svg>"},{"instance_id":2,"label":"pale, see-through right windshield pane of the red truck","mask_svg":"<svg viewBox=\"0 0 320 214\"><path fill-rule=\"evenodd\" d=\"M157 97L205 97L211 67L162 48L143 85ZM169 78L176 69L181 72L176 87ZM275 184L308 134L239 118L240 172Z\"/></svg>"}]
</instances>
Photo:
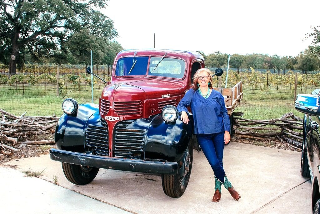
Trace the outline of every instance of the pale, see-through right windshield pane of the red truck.
<instances>
[{"instance_id":1,"label":"pale, see-through right windshield pane of the red truck","mask_svg":"<svg viewBox=\"0 0 320 214\"><path fill-rule=\"evenodd\" d=\"M161 57L151 57L148 75L172 77L181 79L186 70L186 63L182 59L164 58L161 62ZM160 62L160 63L159 63ZM159 64L158 64L159 63ZM158 66L155 69L155 66Z\"/></svg>"}]
</instances>

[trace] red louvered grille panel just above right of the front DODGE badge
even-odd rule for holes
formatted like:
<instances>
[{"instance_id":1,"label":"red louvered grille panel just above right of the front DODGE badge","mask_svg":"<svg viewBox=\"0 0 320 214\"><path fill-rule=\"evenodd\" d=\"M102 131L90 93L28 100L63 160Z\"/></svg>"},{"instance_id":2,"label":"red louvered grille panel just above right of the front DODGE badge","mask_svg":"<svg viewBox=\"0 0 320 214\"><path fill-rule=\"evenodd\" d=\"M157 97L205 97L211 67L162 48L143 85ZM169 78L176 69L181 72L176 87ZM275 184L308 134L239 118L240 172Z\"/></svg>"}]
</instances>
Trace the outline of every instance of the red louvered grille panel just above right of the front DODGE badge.
<instances>
[{"instance_id":1,"label":"red louvered grille panel just above right of the front DODGE badge","mask_svg":"<svg viewBox=\"0 0 320 214\"><path fill-rule=\"evenodd\" d=\"M142 100L114 102L114 109L117 115L142 115Z\"/></svg>"}]
</instances>

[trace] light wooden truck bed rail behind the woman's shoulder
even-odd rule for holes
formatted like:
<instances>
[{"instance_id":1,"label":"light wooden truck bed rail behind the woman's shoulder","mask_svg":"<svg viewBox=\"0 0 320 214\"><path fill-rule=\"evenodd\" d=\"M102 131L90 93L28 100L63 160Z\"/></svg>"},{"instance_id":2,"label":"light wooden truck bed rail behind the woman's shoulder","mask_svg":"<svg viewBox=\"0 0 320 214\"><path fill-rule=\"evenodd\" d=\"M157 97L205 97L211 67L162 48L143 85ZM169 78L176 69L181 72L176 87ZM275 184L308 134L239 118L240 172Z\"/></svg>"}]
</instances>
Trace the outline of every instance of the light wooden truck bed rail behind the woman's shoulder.
<instances>
[{"instance_id":1,"label":"light wooden truck bed rail behind the woman's shoulder","mask_svg":"<svg viewBox=\"0 0 320 214\"><path fill-rule=\"evenodd\" d=\"M242 92L242 81L238 82L235 86L230 88L213 88L216 91L219 91L224 97L224 102L228 110L228 115L231 115L235 110L238 103L243 97Z\"/></svg>"}]
</instances>

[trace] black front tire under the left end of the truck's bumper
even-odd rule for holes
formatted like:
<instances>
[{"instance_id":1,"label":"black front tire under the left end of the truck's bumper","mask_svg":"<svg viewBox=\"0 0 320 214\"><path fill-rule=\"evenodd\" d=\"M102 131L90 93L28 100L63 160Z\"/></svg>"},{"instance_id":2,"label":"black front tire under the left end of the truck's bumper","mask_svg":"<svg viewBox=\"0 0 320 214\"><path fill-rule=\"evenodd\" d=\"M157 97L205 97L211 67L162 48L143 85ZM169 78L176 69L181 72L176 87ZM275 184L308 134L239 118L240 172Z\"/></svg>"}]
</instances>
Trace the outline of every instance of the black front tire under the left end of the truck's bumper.
<instances>
[{"instance_id":1,"label":"black front tire under the left end of the truck's bumper","mask_svg":"<svg viewBox=\"0 0 320 214\"><path fill-rule=\"evenodd\" d=\"M86 167L62 162L63 173L73 184L85 185L93 181L99 172L99 168Z\"/></svg>"}]
</instances>

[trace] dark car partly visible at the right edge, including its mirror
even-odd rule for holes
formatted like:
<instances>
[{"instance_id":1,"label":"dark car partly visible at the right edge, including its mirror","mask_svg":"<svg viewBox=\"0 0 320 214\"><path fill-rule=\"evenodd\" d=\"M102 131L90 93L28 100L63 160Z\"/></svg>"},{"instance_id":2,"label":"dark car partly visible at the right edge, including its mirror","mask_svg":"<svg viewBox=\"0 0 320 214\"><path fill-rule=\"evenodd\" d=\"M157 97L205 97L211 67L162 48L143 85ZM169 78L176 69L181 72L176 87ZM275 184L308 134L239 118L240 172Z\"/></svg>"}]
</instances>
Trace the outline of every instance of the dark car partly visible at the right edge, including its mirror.
<instances>
[{"instance_id":1,"label":"dark car partly visible at the right edge, including its mirror","mask_svg":"<svg viewBox=\"0 0 320 214\"><path fill-rule=\"evenodd\" d=\"M312 94L298 94L295 108L304 113L301 175L309 177L312 184L313 213L320 210L320 89Z\"/></svg>"}]
</instances>

